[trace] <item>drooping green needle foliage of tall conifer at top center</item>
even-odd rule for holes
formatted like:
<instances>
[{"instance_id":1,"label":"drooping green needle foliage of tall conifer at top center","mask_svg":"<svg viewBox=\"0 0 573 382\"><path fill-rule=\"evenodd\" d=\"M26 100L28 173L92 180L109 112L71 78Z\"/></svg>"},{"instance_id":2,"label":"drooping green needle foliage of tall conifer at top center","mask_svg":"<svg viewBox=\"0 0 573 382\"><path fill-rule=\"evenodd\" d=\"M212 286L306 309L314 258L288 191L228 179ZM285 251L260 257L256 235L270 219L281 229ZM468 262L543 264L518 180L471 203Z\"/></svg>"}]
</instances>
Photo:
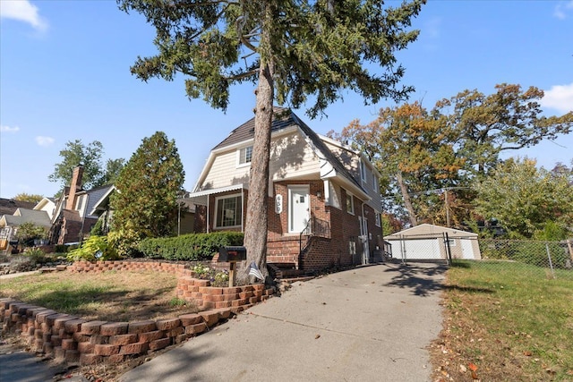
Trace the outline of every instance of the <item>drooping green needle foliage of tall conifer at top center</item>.
<instances>
[{"instance_id":1,"label":"drooping green needle foliage of tall conifer at top center","mask_svg":"<svg viewBox=\"0 0 573 382\"><path fill-rule=\"evenodd\" d=\"M312 117L341 98L340 89L372 103L406 98L413 88L398 87L404 68L395 66L395 53L417 38L408 27L423 3L118 1L124 12L143 14L157 32L158 55L139 57L132 67L141 80L172 81L181 72L189 98L202 96L226 110L230 86L256 81L260 63L270 62L278 104L298 107L312 96ZM265 21L264 9L272 22ZM261 44L263 34L269 44ZM364 68L368 63L380 66L371 72Z\"/></svg>"}]
</instances>

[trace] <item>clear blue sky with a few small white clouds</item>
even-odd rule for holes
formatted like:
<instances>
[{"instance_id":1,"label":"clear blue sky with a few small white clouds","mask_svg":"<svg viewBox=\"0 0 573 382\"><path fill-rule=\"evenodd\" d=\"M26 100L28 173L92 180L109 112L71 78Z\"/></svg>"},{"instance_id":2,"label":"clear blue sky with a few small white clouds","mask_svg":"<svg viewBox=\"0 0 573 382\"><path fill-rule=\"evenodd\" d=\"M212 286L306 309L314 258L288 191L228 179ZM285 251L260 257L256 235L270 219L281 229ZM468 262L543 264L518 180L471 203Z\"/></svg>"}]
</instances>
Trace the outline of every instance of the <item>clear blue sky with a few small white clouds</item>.
<instances>
[{"instance_id":1,"label":"clear blue sky with a few small white clouds","mask_svg":"<svg viewBox=\"0 0 573 382\"><path fill-rule=\"evenodd\" d=\"M388 4L398 4L389 1ZM209 151L252 117L254 89L231 90L227 114L185 97L182 78L141 82L129 71L138 55L155 53L154 30L114 0L0 1L0 197L27 192L52 196L47 176L69 140L99 140L104 159L129 159L154 132L174 139L192 190ZM414 21L421 36L398 54L410 100L431 108L464 89L485 94L498 83L545 90L548 115L573 109L573 1L429 0ZM344 92L314 121L313 130L340 131L368 123L382 106ZM573 134L512 155L540 166L569 164Z\"/></svg>"}]
</instances>

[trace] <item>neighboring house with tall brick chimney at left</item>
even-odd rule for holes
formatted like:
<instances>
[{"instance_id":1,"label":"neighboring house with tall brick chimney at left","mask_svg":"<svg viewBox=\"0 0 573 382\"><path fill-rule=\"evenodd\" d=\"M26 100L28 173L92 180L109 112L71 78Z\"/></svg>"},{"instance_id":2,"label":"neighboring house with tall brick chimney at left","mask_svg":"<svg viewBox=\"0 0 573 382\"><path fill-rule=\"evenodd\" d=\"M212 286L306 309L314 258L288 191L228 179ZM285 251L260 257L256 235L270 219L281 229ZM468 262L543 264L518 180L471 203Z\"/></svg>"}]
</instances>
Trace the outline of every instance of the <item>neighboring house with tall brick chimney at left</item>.
<instances>
[{"instance_id":1,"label":"neighboring house with tall brick chimney at left","mask_svg":"<svg viewBox=\"0 0 573 382\"><path fill-rule=\"evenodd\" d=\"M91 190L81 188L83 166L73 169L72 183L56 201L52 216L51 242L65 244L81 242L98 221L97 206L114 190L112 184Z\"/></svg>"}]
</instances>

